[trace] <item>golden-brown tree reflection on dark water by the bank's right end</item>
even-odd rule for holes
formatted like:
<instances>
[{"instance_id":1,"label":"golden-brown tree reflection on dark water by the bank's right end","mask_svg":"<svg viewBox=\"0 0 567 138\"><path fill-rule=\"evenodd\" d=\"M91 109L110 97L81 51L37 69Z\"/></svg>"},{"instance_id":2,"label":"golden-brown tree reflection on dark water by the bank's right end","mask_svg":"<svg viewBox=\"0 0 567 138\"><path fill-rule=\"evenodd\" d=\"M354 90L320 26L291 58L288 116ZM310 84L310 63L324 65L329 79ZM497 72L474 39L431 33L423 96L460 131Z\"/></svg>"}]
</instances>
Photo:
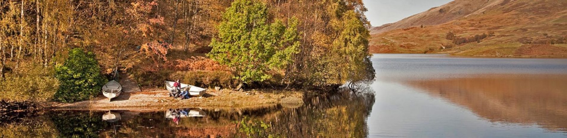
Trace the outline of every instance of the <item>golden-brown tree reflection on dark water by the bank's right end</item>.
<instances>
[{"instance_id":1,"label":"golden-brown tree reflection on dark water by the bank's right end","mask_svg":"<svg viewBox=\"0 0 567 138\"><path fill-rule=\"evenodd\" d=\"M366 119L374 102L373 93L355 94L341 90L338 94L307 98L304 106L284 109L275 119L264 122L269 124L271 136L366 137ZM258 123L252 119L249 124ZM256 129L263 131L262 128ZM245 133L240 135L246 136Z\"/></svg>"}]
</instances>

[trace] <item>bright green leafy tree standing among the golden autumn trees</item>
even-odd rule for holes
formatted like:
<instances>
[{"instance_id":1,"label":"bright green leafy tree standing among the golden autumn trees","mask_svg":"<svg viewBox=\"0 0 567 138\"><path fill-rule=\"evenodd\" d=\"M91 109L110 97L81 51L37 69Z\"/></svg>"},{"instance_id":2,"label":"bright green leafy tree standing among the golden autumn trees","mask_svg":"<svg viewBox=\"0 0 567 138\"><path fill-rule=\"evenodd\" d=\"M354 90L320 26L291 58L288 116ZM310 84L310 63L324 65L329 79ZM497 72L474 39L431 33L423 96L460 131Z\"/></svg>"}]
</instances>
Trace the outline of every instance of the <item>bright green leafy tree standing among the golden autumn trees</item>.
<instances>
[{"instance_id":1,"label":"bright green leafy tree standing among the golden autumn trees","mask_svg":"<svg viewBox=\"0 0 567 138\"><path fill-rule=\"evenodd\" d=\"M268 23L266 4L256 0L236 0L223 14L218 26L218 40L208 56L227 65L244 83L262 82L272 78L270 71L289 67L298 53L298 19L285 24L276 19Z\"/></svg>"}]
</instances>

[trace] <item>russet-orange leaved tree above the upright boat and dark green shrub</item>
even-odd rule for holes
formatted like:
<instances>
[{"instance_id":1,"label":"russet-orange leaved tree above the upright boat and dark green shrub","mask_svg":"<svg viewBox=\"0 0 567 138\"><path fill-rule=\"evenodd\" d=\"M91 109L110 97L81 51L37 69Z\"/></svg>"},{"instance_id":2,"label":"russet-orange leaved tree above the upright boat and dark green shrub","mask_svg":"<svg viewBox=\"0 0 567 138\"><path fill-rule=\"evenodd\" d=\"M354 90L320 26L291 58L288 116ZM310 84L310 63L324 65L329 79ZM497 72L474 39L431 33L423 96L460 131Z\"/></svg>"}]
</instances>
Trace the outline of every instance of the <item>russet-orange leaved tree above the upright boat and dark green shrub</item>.
<instances>
[{"instance_id":1,"label":"russet-orange leaved tree above the upright boat and dark green shrub","mask_svg":"<svg viewBox=\"0 0 567 138\"><path fill-rule=\"evenodd\" d=\"M96 3L94 3L96 4ZM167 60L171 48L162 38L164 18L153 10L159 6L156 1L111 2L108 5L98 3L92 13L101 18L87 19L93 31L92 41L96 45L96 54L103 66L103 72L110 74L119 68L133 68L144 64L143 61L153 61L153 65ZM88 12L87 12L88 13ZM85 16L92 16L86 14ZM100 25L99 25L100 24ZM88 44L87 44L88 45ZM151 65L152 67L155 67ZM152 68L148 68L152 69Z\"/></svg>"}]
</instances>

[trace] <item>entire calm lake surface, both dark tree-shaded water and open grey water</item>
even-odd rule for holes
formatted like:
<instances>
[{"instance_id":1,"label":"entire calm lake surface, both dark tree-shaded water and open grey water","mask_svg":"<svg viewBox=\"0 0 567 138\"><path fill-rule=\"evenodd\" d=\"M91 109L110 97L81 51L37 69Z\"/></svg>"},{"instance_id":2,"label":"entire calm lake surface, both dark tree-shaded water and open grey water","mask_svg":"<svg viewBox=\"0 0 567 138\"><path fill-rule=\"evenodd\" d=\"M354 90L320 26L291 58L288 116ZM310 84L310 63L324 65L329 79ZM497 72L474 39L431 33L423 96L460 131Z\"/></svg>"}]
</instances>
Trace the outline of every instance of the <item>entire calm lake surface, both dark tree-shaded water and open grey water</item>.
<instances>
[{"instance_id":1,"label":"entire calm lake surface, both dark tree-shaded water and open grey water","mask_svg":"<svg viewBox=\"0 0 567 138\"><path fill-rule=\"evenodd\" d=\"M44 111L0 124L0 137L567 137L567 60L371 60L376 81L357 94L255 109Z\"/></svg>"}]
</instances>

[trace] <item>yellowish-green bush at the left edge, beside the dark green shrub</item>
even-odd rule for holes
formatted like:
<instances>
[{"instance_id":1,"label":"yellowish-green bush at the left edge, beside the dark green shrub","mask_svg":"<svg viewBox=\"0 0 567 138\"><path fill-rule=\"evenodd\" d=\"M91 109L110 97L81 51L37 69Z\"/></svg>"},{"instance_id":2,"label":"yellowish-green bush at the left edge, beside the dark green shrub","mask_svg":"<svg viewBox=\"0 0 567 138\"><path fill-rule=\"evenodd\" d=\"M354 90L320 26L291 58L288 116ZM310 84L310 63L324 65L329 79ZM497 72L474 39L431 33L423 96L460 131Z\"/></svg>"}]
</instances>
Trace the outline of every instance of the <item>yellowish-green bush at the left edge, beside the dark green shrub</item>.
<instances>
[{"instance_id":1,"label":"yellowish-green bush at the left edge, beside the dark green shrub","mask_svg":"<svg viewBox=\"0 0 567 138\"><path fill-rule=\"evenodd\" d=\"M53 68L22 66L21 73L10 74L5 81L0 81L0 100L45 102L53 98L58 86L59 82L53 77Z\"/></svg>"}]
</instances>

